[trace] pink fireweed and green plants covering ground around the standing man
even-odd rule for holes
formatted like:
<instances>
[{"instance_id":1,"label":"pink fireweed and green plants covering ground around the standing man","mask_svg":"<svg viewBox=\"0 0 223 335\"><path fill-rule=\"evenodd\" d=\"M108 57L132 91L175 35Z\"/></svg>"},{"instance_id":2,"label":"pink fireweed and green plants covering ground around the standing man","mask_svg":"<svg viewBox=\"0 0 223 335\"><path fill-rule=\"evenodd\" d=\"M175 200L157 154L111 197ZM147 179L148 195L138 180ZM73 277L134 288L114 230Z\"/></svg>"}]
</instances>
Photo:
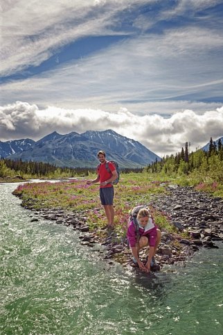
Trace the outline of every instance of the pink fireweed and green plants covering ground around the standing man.
<instances>
[{"instance_id":1,"label":"pink fireweed and green plants covering ground around the standing man","mask_svg":"<svg viewBox=\"0 0 223 335\"><path fill-rule=\"evenodd\" d=\"M123 175L114 188L115 225L121 236L126 234L130 209L140 204L148 206L151 195L165 192L160 183L149 180L147 174ZM104 209L100 204L98 186L87 185L83 180L26 183L18 186L13 194L20 195L23 204L34 209L62 208L69 211L86 211L91 230L107 224ZM154 216L156 220L159 216L165 218L165 215L158 213Z\"/></svg>"}]
</instances>

